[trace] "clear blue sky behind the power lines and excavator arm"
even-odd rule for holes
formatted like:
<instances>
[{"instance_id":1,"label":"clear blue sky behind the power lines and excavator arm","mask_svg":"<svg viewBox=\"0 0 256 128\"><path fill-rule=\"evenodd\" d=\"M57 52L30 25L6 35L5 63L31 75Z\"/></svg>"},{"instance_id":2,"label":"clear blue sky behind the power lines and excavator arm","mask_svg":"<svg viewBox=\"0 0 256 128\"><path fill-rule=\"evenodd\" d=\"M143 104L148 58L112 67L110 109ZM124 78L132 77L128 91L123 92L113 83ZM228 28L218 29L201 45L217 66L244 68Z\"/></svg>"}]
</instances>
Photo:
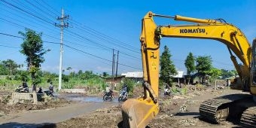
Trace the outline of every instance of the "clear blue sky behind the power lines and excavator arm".
<instances>
[{"instance_id":1,"label":"clear blue sky behind the power lines and excavator arm","mask_svg":"<svg viewBox=\"0 0 256 128\"><path fill-rule=\"evenodd\" d=\"M6 4L8 2L11 5ZM0 1L0 32L17 35L24 27L43 32L43 41L59 43L61 8L69 14L70 27L64 30L63 69L72 67L77 72L93 71L111 73L112 50L120 50L118 74L142 71L139 35L142 17L148 11L155 14L200 19L222 18L245 33L248 41L256 36L256 1L70 1L70 0L3 0ZM17 8L14 8L14 5ZM25 12L26 11L26 12ZM29 13L29 14L28 14ZM32 15L34 16L32 16ZM39 17L39 18L38 18ZM182 24L170 19L155 18L157 25ZM25 62L20 54L22 39L0 35L0 60L14 59ZM8 47L3 47L8 46ZM169 47L172 60L179 71L186 71L184 59L189 52L195 56L212 56L213 66L218 69L234 69L227 47L218 41L162 38L163 46ZM45 43L51 51L45 55L41 68L50 72L59 71L59 44ZM80 50L80 51L78 51ZM117 54L117 51L115 51ZM92 56L93 55L93 56ZM109 60L109 61L108 61Z\"/></svg>"}]
</instances>

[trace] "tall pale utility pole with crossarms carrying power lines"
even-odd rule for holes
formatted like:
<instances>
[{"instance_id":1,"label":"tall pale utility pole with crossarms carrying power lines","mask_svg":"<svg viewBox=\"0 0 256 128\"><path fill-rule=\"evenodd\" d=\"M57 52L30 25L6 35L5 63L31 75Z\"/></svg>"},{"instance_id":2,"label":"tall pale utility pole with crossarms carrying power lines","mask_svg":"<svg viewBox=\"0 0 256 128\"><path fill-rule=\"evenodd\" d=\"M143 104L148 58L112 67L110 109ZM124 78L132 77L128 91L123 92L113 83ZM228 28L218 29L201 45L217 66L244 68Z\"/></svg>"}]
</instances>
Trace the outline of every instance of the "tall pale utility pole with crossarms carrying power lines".
<instances>
[{"instance_id":1,"label":"tall pale utility pole with crossarms carrying power lines","mask_svg":"<svg viewBox=\"0 0 256 128\"><path fill-rule=\"evenodd\" d=\"M55 26L60 28L59 87L58 87L59 90L61 90L61 84L62 84L63 29L69 27L69 23L65 23L64 20L68 20L68 19L69 19L69 15L64 15L64 10L62 8L61 17L57 18L57 20L60 21L60 24L55 23Z\"/></svg>"}]
</instances>

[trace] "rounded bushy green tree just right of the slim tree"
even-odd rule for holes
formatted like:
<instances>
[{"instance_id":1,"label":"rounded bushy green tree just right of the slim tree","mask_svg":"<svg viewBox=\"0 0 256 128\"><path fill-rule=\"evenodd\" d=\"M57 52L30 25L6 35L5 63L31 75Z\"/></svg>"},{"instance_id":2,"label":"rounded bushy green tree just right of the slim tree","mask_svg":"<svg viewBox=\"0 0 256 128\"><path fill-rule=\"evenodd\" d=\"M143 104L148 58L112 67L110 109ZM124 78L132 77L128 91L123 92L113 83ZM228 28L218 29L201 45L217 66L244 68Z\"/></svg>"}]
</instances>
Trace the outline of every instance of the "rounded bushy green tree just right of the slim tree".
<instances>
[{"instance_id":1,"label":"rounded bushy green tree just right of the slim tree","mask_svg":"<svg viewBox=\"0 0 256 128\"><path fill-rule=\"evenodd\" d=\"M211 56L198 56L197 57L197 73L199 75L200 81L206 79L206 75L209 74L212 69L212 58Z\"/></svg>"}]
</instances>

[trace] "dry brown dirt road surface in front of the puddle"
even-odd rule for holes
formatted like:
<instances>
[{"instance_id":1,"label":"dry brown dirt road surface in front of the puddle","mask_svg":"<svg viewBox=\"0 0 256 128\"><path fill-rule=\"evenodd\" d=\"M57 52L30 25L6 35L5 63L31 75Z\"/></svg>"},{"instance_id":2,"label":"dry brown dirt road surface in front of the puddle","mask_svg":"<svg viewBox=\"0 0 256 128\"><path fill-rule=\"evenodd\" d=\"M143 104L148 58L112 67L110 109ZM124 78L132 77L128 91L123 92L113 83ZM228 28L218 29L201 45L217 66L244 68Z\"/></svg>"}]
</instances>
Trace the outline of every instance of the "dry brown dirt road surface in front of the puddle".
<instances>
[{"instance_id":1,"label":"dry brown dirt road surface in front of the puddle","mask_svg":"<svg viewBox=\"0 0 256 128\"><path fill-rule=\"evenodd\" d=\"M78 102L61 108L46 110L23 111L17 114L8 114L0 118L0 127L37 127L45 123L58 123L72 117L90 114L99 108L108 108L117 105L117 102Z\"/></svg>"}]
</instances>

